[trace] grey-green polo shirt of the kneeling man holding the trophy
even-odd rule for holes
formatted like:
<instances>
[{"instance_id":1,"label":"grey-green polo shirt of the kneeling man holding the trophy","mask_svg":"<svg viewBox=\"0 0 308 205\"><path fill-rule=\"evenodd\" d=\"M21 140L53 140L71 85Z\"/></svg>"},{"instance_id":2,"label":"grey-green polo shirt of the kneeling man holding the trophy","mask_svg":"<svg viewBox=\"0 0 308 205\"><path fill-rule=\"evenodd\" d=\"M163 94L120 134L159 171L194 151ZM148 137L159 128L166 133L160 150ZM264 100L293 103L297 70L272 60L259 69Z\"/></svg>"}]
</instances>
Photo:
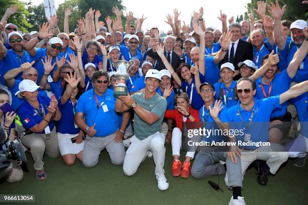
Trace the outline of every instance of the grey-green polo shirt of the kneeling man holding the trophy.
<instances>
[{"instance_id":1,"label":"grey-green polo shirt of the kneeling man holding the trophy","mask_svg":"<svg viewBox=\"0 0 308 205\"><path fill-rule=\"evenodd\" d=\"M139 116L134 114L134 133L139 140L143 140L148 136L162 131L162 122L167 109L167 100L160 96L157 92L149 99L144 98L144 92L137 92L131 95L139 106L150 113L156 114L160 119L152 125L148 125L141 120Z\"/></svg>"}]
</instances>

